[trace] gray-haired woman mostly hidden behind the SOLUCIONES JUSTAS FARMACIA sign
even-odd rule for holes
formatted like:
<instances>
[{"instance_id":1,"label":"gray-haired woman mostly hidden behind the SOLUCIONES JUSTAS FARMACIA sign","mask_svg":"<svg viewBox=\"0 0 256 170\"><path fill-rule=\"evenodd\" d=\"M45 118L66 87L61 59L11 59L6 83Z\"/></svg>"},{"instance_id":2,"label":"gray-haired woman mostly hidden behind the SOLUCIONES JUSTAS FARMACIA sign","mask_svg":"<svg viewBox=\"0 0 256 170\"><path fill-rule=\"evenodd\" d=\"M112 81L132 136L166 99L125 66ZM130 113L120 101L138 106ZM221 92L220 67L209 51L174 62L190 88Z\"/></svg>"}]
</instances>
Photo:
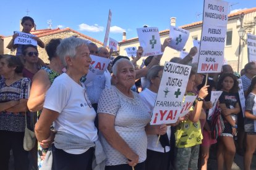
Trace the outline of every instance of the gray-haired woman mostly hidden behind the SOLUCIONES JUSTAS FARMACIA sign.
<instances>
[{"instance_id":1,"label":"gray-haired woman mostly hidden behind the SOLUCIONES JUSTAS FARMACIA sign","mask_svg":"<svg viewBox=\"0 0 256 170\"><path fill-rule=\"evenodd\" d=\"M148 70L147 81L150 83L148 88L140 92L139 96L143 104L147 108L147 112L153 112L158 89L160 87L161 78L163 75L163 66L155 65ZM170 164L170 139L171 126L167 126L166 134L160 137L160 144L156 145L158 136L147 135L147 160L145 166L147 170L163 169L168 170Z\"/></svg>"}]
</instances>

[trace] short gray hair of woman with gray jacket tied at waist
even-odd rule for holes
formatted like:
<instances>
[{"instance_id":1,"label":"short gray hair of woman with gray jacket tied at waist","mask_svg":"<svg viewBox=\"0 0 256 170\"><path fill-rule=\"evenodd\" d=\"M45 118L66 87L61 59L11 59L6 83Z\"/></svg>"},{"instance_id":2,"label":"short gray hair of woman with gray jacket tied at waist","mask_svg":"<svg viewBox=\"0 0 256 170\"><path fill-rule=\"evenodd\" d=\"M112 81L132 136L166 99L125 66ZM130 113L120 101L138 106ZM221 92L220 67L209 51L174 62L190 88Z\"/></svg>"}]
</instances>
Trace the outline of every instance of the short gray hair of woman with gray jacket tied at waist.
<instances>
[{"instance_id":1,"label":"short gray hair of woman with gray jacket tied at waist","mask_svg":"<svg viewBox=\"0 0 256 170\"><path fill-rule=\"evenodd\" d=\"M66 57L74 58L75 54L77 54L77 47L82 45L87 46L87 41L85 39L75 38L74 36L61 40L61 44L57 47L56 54L59 56L59 59L61 59L64 67L67 67Z\"/></svg>"}]
</instances>

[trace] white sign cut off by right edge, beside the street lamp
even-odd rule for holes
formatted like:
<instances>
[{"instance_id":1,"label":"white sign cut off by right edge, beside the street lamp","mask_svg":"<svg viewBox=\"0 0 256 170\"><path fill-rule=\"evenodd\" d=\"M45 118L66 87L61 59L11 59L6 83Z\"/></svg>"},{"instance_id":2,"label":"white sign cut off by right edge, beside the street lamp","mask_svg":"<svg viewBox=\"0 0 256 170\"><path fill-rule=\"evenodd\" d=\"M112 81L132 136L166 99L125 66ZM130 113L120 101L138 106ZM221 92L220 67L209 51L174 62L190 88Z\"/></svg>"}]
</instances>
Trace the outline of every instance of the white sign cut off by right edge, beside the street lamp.
<instances>
[{"instance_id":1,"label":"white sign cut off by right edge, beside the street lamp","mask_svg":"<svg viewBox=\"0 0 256 170\"><path fill-rule=\"evenodd\" d=\"M247 33L247 51L249 62L256 62L256 36Z\"/></svg>"}]
</instances>

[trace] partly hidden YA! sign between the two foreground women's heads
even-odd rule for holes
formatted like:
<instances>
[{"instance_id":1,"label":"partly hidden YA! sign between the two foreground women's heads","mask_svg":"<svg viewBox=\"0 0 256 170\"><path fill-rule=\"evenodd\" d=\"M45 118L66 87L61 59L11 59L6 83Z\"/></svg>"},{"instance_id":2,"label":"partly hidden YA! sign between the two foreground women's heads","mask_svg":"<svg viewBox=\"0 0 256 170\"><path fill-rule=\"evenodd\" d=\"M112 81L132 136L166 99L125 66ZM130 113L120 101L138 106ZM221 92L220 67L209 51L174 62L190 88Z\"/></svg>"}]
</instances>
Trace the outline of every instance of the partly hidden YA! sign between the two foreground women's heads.
<instances>
[{"instance_id":1,"label":"partly hidden YA! sign between the two foreground women's heads","mask_svg":"<svg viewBox=\"0 0 256 170\"><path fill-rule=\"evenodd\" d=\"M92 68L96 70L96 75L102 75L104 71L108 68L108 64L110 59L106 59L104 57L98 57L96 55L90 55L92 58Z\"/></svg>"}]
</instances>

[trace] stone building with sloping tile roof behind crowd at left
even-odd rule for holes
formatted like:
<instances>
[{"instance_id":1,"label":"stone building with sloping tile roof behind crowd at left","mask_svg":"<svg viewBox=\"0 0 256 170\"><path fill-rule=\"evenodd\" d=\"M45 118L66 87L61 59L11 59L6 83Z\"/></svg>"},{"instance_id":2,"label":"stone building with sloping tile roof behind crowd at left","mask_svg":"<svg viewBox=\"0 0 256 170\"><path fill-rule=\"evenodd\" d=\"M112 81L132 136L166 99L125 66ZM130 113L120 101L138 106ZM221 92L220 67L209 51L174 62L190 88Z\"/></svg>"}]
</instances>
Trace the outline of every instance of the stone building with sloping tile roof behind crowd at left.
<instances>
[{"instance_id":1,"label":"stone building with sloping tile roof behind crowd at left","mask_svg":"<svg viewBox=\"0 0 256 170\"><path fill-rule=\"evenodd\" d=\"M47 44L53 38L67 38L70 36L77 36L82 39L87 39L93 43L95 43L98 47L103 46L103 42L100 42L90 36L86 36L85 34L79 33L78 31L72 30L71 28L56 28L56 29L43 29L43 30L32 30L30 33L36 35L41 39L45 44ZM6 46L11 41L12 36L0 36L0 54L14 54L15 51L11 51L7 49ZM45 62L49 63L48 55L46 54L45 49L38 46L39 57Z\"/></svg>"}]
</instances>

